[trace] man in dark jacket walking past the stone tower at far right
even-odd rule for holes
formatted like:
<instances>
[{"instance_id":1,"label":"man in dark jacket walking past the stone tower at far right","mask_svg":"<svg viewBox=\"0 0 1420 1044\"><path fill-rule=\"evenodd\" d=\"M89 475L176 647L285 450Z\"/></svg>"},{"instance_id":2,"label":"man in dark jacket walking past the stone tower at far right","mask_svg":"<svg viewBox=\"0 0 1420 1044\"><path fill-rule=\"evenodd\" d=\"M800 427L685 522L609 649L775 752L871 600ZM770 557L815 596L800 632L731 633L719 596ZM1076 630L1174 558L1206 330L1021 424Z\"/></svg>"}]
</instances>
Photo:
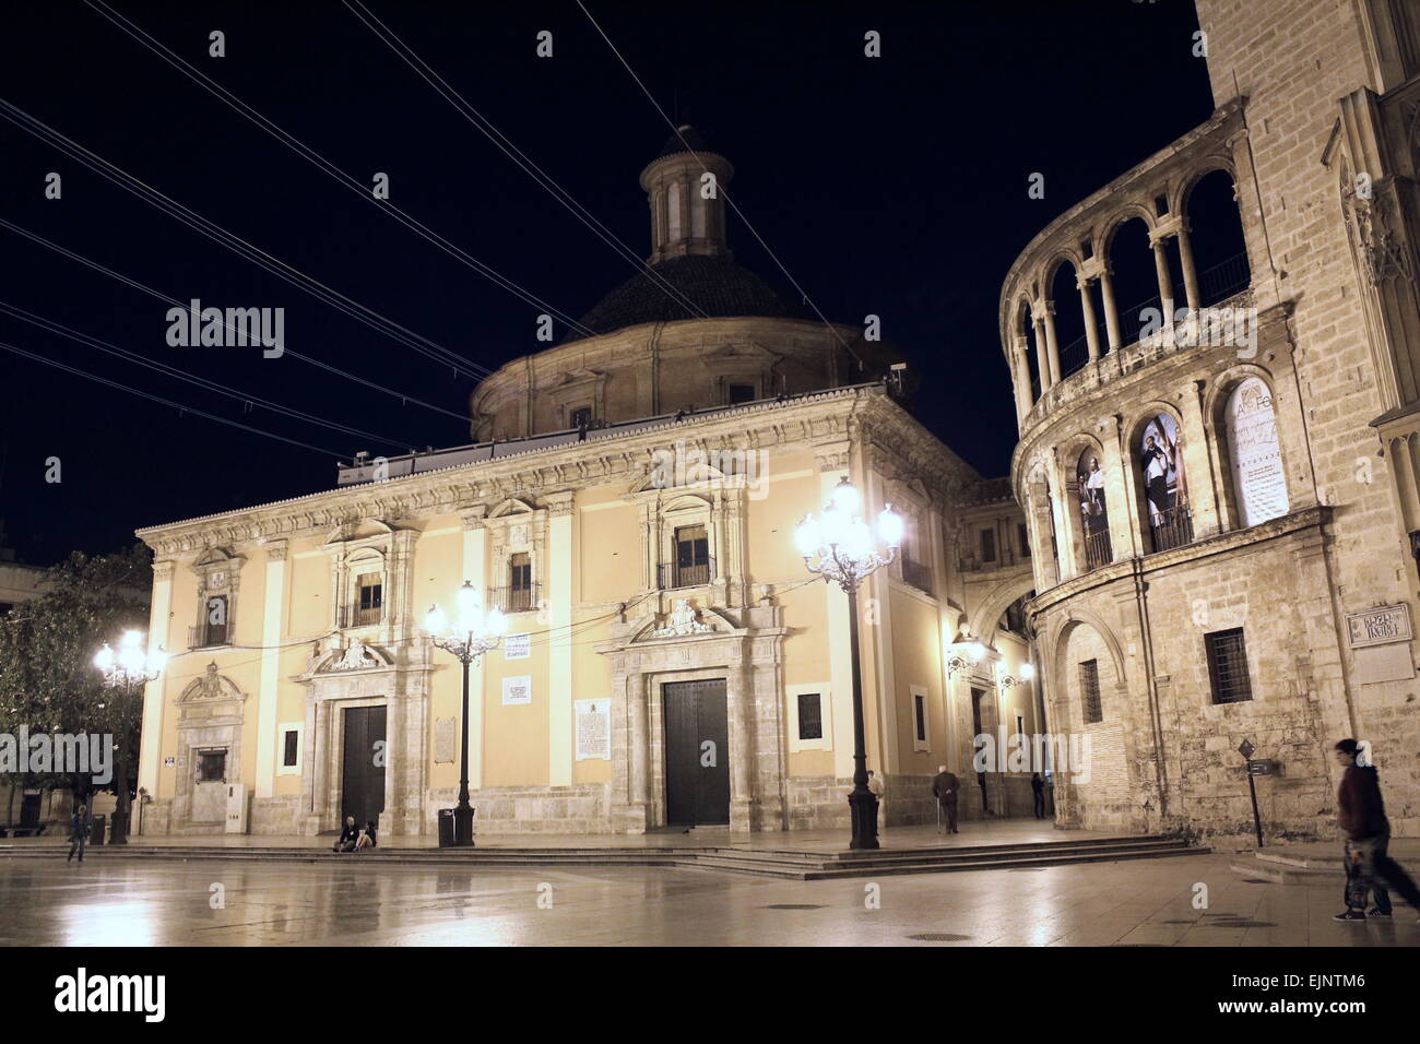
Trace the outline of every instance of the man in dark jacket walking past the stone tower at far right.
<instances>
[{"instance_id":1,"label":"man in dark jacket walking past the stone tower at far right","mask_svg":"<svg viewBox=\"0 0 1420 1044\"><path fill-rule=\"evenodd\" d=\"M1360 744L1342 740L1336 744L1336 761L1345 766L1336 790L1336 825L1342 831L1346 854L1346 912L1333 920L1360 923L1367 916L1390 916L1390 892L1420 910L1420 888L1404 868L1386 855L1390 844L1390 821L1380 797L1380 780L1373 766L1356 764ZM1382 883L1384 881L1384 883ZM1376 905L1366 910L1366 892L1375 892Z\"/></svg>"}]
</instances>

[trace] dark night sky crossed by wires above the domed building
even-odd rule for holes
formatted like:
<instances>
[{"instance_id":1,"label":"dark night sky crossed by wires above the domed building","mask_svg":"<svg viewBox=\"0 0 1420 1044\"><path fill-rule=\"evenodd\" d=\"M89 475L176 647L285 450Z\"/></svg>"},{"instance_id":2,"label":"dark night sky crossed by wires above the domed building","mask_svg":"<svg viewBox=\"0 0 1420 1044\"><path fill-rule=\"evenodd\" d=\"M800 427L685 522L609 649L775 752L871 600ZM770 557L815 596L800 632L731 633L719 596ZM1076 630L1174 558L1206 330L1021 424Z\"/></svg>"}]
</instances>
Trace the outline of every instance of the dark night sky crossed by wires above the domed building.
<instances>
[{"instance_id":1,"label":"dark night sky crossed by wires above the domed building","mask_svg":"<svg viewBox=\"0 0 1420 1044\"><path fill-rule=\"evenodd\" d=\"M575 3L369 9L638 256L640 168L669 135ZM632 274L339 3L115 3L402 209L558 310ZM831 318L883 318L923 422L984 474L1015 437L997 334L1007 268L1052 217L1203 122L1191 3L682 3L588 9L657 101L736 165L731 195ZM226 33L227 57L207 57ZM883 57L862 54L863 33ZM555 57L538 60L538 30ZM310 166L80 0L0 9L0 97L254 246L474 364L535 351L537 308ZM284 307L287 344L464 412L471 384L0 122L0 216L179 300ZM64 178L45 200L44 176ZM1044 200L1027 197L1031 172ZM731 217L736 259L785 284ZM24 561L334 486L359 449L459 445L453 418L290 357L172 348L168 305L0 229L0 301L392 442L274 416L0 315L0 341L329 452L182 416L0 352L0 516ZM558 337L564 327L558 325ZM45 483L45 459L62 482Z\"/></svg>"}]
</instances>

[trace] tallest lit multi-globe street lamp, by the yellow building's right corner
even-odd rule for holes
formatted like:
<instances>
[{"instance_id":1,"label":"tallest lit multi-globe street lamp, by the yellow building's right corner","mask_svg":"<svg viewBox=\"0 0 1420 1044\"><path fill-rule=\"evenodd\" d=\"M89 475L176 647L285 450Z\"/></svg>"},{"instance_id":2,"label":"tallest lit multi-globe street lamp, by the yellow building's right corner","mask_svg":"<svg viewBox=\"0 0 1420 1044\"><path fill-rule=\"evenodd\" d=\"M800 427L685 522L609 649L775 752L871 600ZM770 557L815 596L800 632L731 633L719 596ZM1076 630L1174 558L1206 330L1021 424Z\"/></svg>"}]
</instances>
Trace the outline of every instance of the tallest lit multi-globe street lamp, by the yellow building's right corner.
<instances>
[{"instance_id":1,"label":"tallest lit multi-globe street lamp, by the yellow building's right corner","mask_svg":"<svg viewBox=\"0 0 1420 1044\"><path fill-rule=\"evenodd\" d=\"M878 516L878 535L886 545L879 553L872 530L859 517L862 496L845 476L834 487L834 499L824 507L822 520L804 516L794 543L804 555L804 565L824 580L838 584L848 595L848 648L853 672L853 793L848 812L853 824L849 848L878 848L878 797L868 788L868 750L863 737L863 679L858 662L858 585L878 568L897 557L902 544L902 518L892 504Z\"/></svg>"}]
</instances>

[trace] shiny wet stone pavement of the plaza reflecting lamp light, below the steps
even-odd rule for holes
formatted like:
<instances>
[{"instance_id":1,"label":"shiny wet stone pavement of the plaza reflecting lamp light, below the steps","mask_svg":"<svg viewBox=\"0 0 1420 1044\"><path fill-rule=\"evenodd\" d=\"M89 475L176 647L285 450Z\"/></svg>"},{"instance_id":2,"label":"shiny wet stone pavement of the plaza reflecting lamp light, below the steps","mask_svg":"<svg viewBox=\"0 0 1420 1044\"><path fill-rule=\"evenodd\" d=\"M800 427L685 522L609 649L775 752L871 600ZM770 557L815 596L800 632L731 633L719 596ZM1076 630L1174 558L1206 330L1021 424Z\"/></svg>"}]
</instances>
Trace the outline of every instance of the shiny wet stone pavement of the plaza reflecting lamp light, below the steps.
<instances>
[{"instance_id":1,"label":"shiny wet stone pavement of the plaza reflecting lamp light, below the steps","mask_svg":"<svg viewBox=\"0 0 1420 1044\"><path fill-rule=\"evenodd\" d=\"M1230 857L771 881L692 869L0 859L3 946L1416 946ZM1208 906L1193 906L1194 885ZM220 901L220 905L219 905ZM876 908L873 902L876 901Z\"/></svg>"}]
</instances>

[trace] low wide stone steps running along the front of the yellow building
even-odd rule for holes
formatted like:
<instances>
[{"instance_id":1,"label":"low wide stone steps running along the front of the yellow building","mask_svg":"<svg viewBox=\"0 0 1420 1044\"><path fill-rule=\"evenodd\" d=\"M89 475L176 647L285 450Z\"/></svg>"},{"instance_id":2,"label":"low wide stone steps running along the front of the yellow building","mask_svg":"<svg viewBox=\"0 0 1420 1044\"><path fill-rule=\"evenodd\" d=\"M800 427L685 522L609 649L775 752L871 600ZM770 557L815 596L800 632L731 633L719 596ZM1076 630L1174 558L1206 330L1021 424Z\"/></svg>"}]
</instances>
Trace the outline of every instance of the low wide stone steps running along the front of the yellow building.
<instances>
[{"instance_id":1,"label":"low wide stone steps running along the front of the yellow building","mask_svg":"<svg viewBox=\"0 0 1420 1044\"><path fill-rule=\"evenodd\" d=\"M0 857L55 858L65 845L4 845ZM947 874L974 869L1037 869L1082 862L1160 859L1207 855L1208 848L1190 848L1179 838L1119 837L1089 841L1035 841L1000 845L924 845L876 851L815 852L792 848L748 847L665 847L665 848L376 848L372 852L337 855L312 838L312 848L220 847L131 844L88 849L89 859L129 862L270 862L368 866L673 866L728 874L781 878L787 881L834 881L892 874Z\"/></svg>"}]
</instances>

